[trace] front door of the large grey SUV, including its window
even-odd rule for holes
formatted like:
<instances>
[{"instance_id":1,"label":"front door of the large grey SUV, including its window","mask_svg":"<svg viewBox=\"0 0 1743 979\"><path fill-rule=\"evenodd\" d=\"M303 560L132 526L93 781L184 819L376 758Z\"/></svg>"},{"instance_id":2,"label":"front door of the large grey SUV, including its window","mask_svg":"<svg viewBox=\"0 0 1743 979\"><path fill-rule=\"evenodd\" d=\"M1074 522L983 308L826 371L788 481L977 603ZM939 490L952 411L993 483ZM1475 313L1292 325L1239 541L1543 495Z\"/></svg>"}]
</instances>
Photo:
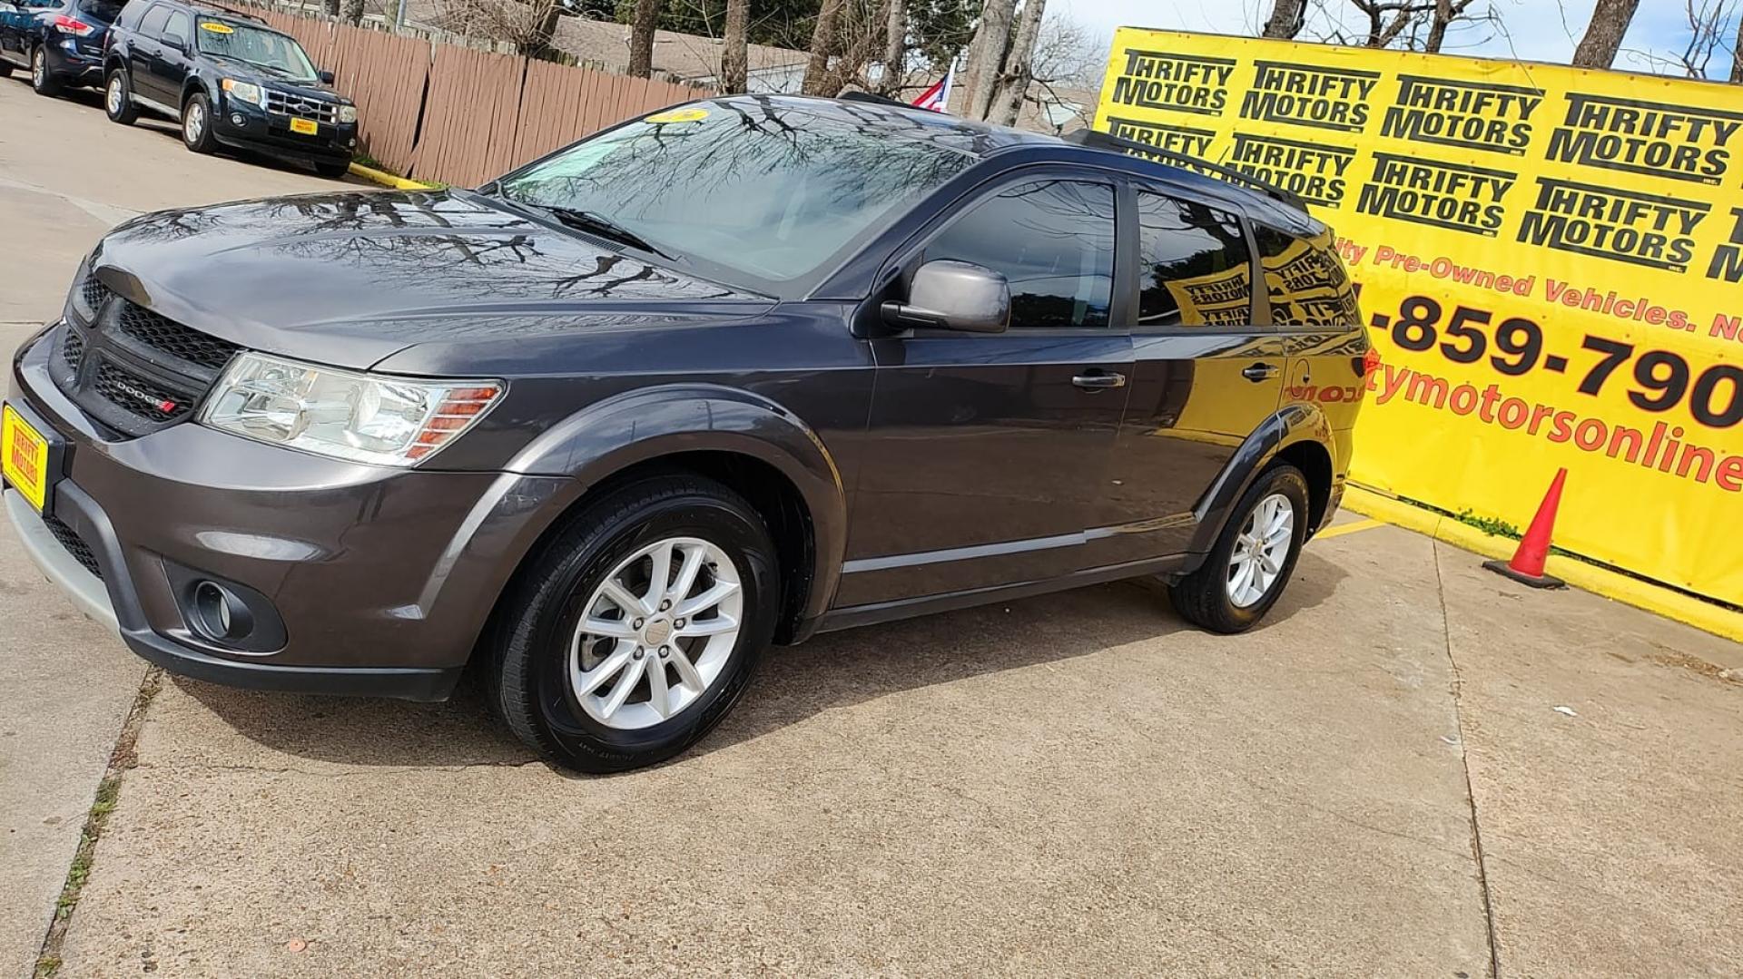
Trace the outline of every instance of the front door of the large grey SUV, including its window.
<instances>
[{"instance_id":1,"label":"front door of the large grey SUV, including its window","mask_svg":"<svg viewBox=\"0 0 1743 979\"><path fill-rule=\"evenodd\" d=\"M1114 211L1112 183L1018 179L912 258L1004 273L1011 327L873 341L870 449L837 606L1084 566L1131 375L1131 338L1112 322Z\"/></svg>"}]
</instances>

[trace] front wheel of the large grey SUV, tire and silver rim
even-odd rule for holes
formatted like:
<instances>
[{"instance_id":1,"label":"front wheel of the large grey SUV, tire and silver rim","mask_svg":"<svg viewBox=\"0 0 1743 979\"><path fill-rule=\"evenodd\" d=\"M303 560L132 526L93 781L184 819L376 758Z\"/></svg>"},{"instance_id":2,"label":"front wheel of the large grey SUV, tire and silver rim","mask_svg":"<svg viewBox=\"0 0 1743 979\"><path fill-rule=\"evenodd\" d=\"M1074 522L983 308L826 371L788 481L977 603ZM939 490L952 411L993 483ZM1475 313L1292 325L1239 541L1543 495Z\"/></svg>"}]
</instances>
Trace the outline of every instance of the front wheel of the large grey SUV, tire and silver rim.
<instances>
[{"instance_id":1,"label":"front wheel of the large grey SUV, tire and silver rim","mask_svg":"<svg viewBox=\"0 0 1743 979\"><path fill-rule=\"evenodd\" d=\"M737 493L680 474L627 484L519 575L492 643L490 702L558 765L655 765L737 702L779 594L769 528Z\"/></svg>"}]
</instances>

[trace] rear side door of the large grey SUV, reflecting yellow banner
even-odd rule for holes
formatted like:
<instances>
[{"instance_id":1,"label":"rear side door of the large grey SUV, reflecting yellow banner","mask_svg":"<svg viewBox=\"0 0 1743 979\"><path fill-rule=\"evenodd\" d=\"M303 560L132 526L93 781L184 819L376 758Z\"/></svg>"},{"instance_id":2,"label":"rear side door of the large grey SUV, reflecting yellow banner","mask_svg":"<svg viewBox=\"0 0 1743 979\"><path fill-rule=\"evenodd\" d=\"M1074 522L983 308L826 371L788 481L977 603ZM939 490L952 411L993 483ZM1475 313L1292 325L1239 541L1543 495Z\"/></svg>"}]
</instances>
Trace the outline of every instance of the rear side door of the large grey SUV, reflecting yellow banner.
<instances>
[{"instance_id":1,"label":"rear side door of the large grey SUV, reflecting yellow banner","mask_svg":"<svg viewBox=\"0 0 1743 979\"><path fill-rule=\"evenodd\" d=\"M1110 481L1103 563L1183 554L1194 507L1276 411L1288 340L1255 296L1251 225L1183 188L1133 183L1135 375Z\"/></svg>"}]
</instances>

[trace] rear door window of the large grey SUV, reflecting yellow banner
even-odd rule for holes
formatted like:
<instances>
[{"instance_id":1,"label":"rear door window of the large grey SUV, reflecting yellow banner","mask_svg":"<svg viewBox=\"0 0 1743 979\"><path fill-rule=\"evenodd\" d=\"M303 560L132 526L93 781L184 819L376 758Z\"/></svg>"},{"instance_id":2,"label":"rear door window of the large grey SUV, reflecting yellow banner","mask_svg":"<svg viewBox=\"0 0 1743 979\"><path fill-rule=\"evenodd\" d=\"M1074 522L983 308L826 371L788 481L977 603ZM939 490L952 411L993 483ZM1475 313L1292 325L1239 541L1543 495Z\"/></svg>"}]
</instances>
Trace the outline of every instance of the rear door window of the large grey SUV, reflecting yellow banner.
<instances>
[{"instance_id":1,"label":"rear door window of the large grey SUV, reflecting yellow banner","mask_svg":"<svg viewBox=\"0 0 1743 979\"><path fill-rule=\"evenodd\" d=\"M1140 190L1138 256L1140 326L1253 322L1251 258L1234 214Z\"/></svg>"}]
</instances>

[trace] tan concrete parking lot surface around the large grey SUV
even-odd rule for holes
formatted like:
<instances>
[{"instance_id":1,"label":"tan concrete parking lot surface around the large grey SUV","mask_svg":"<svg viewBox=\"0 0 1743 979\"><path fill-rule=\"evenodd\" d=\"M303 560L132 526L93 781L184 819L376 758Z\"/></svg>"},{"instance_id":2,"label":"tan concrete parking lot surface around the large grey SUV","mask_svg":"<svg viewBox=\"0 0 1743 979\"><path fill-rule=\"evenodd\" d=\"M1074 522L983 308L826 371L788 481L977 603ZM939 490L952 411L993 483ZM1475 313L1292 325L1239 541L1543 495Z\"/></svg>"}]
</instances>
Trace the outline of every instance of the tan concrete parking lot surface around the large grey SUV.
<instances>
[{"instance_id":1,"label":"tan concrete parking lot surface around the large grey SUV","mask_svg":"<svg viewBox=\"0 0 1743 979\"><path fill-rule=\"evenodd\" d=\"M94 105L0 82L9 347L134 211L333 186ZM24 974L145 669L9 530L0 643ZM535 761L471 690L166 678L52 951L58 976L1733 974L1740 707L1734 643L1354 517L1246 636L1136 584L824 636L699 749L610 779Z\"/></svg>"}]
</instances>

